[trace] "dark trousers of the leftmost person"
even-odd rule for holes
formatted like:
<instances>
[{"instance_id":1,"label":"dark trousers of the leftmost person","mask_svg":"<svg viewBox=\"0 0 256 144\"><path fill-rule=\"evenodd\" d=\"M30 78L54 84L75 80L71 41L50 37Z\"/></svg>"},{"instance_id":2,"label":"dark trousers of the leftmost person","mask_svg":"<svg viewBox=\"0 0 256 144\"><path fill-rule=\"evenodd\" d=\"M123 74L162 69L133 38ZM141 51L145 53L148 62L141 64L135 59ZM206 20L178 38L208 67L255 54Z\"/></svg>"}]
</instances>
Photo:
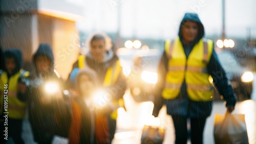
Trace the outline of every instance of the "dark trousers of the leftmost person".
<instances>
[{"instance_id":1,"label":"dark trousers of the leftmost person","mask_svg":"<svg viewBox=\"0 0 256 144\"><path fill-rule=\"evenodd\" d=\"M12 119L8 117L8 123L4 123L5 122L5 117L3 117L3 115L1 115L1 122L0 122L0 143L6 143L7 140L4 139L5 138L5 130L6 127L8 128L8 140L10 138L12 138L12 140L14 141L14 143L21 143L23 144L24 141L22 139L22 124L23 124L23 119ZM4 121L3 121L4 120ZM5 124L8 124L5 125Z\"/></svg>"}]
</instances>

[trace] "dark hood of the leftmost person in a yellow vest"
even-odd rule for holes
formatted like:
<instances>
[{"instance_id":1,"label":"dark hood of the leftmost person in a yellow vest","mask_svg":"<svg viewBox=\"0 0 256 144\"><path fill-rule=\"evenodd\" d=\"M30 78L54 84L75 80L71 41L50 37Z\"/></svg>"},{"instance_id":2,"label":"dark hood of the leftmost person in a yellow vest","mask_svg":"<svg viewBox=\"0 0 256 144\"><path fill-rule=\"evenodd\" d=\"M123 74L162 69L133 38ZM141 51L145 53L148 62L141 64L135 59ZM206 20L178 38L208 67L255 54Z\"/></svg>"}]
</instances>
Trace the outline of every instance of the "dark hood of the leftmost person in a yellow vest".
<instances>
[{"instance_id":1,"label":"dark hood of the leftmost person in a yellow vest","mask_svg":"<svg viewBox=\"0 0 256 144\"><path fill-rule=\"evenodd\" d=\"M4 57L4 61L6 61L7 58L14 58L15 68L13 70L13 74L16 74L22 68L23 55L20 50L16 48L8 49L3 53L3 57ZM4 64L3 70L7 71L5 64Z\"/></svg>"}]
</instances>

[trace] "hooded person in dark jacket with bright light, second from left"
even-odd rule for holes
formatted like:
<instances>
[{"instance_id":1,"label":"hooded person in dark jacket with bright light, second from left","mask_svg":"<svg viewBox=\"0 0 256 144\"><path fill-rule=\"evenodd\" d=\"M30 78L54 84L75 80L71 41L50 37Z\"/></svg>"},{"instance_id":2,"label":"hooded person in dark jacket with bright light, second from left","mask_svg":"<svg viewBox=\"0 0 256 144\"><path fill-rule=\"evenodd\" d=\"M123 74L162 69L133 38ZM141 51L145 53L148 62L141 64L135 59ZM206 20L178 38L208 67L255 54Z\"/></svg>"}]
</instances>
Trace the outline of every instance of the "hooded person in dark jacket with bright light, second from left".
<instances>
[{"instance_id":1,"label":"hooded person in dark jacket with bright light, second from left","mask_svg":"<svg viewBox=\"0 0 256 144\"><path fill-rule=\"evenodd\" d=\"M62 80L54 70L51 46L41 43L33 56L35 75L30 79L26 98L29 121L37 143L51 143L57 129L56 111L60 111ZM63 107L62 107L63 108ZM65 109L62 109L65 112Z\"/></svg>"}]
</instances>

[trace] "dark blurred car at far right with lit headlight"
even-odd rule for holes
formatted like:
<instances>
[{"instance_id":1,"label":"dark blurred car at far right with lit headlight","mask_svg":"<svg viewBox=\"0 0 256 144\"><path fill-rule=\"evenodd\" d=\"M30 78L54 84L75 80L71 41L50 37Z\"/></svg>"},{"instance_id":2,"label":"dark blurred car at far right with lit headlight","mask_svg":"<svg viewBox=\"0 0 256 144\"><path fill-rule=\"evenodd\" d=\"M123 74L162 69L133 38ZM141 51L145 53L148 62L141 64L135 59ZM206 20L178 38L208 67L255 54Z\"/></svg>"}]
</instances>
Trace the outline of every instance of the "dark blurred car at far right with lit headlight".
<instances>
[{"instance_id":1,"label":"dark blurred car at far right with lit headlight","mask_svg":"<svg viewBox=\"0 0 256 144\"><path fill-rule=\"evenodd\" d=\"M217 52L219 61L226 72L226 76L231 83L238 101L251 98L253 73L246 66L242 66L237 58L227 50ZM215 99L222 98L215 91Z\"/></svg>"}]
</instances>

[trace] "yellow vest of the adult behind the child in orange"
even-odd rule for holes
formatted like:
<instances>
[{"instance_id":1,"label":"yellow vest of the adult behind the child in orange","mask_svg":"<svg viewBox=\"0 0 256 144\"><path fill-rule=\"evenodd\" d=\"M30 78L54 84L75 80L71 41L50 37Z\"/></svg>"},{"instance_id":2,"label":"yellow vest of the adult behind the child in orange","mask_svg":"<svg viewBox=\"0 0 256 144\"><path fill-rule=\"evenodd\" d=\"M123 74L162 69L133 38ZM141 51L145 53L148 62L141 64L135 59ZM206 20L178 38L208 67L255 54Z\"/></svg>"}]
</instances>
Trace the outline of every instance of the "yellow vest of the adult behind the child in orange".
<instances>
[{"instance_id":1,"label":"yellow vest of the adult behind the child in orange","mask_svg":"<svg viewBox=\"0 0 256 144\"><path fill-rule=\"evenodd\" d=\"M87 65L86 56L84 55L79 56L78 67L82 69L86 65ZM108 86L115 85L117 82L117 78L120 74L120 71L121 71L120 61L117 60L116 63L113 66L109 67L108 70L106 71L103 86L108 87ZM114 107L122 107L124 105L123 99L119 99L118 101L112 101L112 104L114 105ZM117 109L111 113L111 118L117 119Z\"/></svg>"}]
</instances>

